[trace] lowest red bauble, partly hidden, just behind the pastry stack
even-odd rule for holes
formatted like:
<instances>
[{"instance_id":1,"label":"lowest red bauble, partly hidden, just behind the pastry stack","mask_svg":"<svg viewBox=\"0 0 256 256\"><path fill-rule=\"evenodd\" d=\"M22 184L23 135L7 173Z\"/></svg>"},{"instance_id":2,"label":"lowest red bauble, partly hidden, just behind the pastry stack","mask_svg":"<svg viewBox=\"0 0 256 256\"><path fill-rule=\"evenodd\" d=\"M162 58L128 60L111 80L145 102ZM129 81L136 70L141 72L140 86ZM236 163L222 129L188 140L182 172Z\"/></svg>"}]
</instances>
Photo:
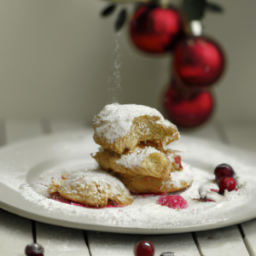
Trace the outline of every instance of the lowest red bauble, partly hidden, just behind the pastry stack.
<instances>
[{"instance_id":1,"label":"lowest red bauble, partly hidden, just behind the pastry stack","mask_svg":"<svg viewBox=\"0 0 256 256\"><path fill-rule=\"evenodd\" d=\"M164 99L170 120L177 126L193 127L201 125L212 113L213 99L208 91L193 90L183 92L175 81L166 91Z\"/></svg>"}]
</instances>

